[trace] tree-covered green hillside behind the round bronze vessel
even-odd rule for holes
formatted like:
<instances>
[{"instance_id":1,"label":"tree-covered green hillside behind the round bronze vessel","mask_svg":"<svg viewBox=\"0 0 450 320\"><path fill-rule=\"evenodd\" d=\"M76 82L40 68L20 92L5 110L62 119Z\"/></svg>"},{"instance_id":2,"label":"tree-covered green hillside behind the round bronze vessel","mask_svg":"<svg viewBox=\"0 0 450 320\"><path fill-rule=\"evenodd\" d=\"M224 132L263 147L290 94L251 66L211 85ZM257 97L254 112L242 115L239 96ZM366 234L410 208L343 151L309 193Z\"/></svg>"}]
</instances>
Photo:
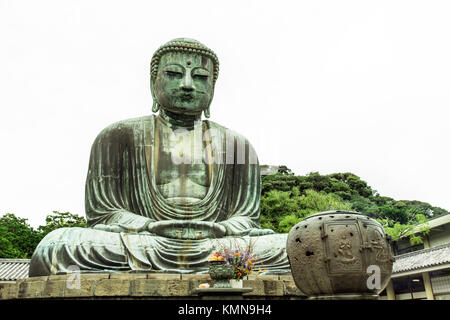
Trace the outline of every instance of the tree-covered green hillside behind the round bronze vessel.
<instances>
[{"instance_id":1,"label":"tree-covered green hillside behind the round bronze vessel","mask_svg":"<svg viewBox=\"0 0 450 320\"><path fill-rule=\"evenodd\" d=\"M449 212L420 201L384 197L352 173L296 176L286 166L262 177L261 225L288 232L306 216L327 210L357 211L378 220L394 241L409 237L420 243L429 229L417 226Z\"/></svg>"}]
</instances>

